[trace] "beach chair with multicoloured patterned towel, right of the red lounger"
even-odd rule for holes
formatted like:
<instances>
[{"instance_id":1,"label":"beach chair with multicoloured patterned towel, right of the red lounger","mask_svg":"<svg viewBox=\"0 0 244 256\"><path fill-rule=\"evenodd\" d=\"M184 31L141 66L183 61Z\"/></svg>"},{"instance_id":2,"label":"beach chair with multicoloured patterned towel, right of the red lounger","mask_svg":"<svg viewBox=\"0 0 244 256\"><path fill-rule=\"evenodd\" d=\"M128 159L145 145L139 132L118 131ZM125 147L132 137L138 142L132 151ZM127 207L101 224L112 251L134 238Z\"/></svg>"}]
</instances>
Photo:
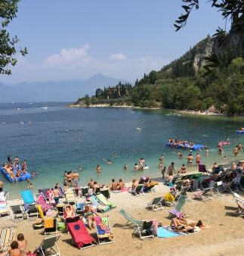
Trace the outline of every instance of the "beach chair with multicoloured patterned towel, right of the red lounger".
<instances>
[{"instance_id":1,"label":"beach chair with multicoloured patterned towel, right of the red lounger","mask_svg":"<svg viewBox=\"0 0 244 256\"><path fill-rule=\"evenodd\" d=\"M106 245L113 243L113 233L110 228L109 217L99 217L94 218L96 230L97 230L97 240L99 245Z\"/></svg>"}]
</instances>

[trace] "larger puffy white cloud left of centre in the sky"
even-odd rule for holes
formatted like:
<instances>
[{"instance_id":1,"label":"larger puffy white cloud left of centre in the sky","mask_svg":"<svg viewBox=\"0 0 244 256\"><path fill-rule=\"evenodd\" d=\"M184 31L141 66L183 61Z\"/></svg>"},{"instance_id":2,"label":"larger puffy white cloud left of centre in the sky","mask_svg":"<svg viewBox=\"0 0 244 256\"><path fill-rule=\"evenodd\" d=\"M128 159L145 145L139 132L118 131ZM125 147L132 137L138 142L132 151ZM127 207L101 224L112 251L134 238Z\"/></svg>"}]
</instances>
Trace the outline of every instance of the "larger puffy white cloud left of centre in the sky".
<instances>
[{"instance_id":1,"label":"larger puffy white cloud left of centre in the sky","mask_svg":"<svg viewBox=\"0 0 244 256\"><path fill-rule=\"evenodd\" d=\"M90 45L83 45L81 48L63 48L60 53L45 58L44 64L50 66L65 66L85 64L90 60L88 49Z\"/></svg>"}]
</instances>

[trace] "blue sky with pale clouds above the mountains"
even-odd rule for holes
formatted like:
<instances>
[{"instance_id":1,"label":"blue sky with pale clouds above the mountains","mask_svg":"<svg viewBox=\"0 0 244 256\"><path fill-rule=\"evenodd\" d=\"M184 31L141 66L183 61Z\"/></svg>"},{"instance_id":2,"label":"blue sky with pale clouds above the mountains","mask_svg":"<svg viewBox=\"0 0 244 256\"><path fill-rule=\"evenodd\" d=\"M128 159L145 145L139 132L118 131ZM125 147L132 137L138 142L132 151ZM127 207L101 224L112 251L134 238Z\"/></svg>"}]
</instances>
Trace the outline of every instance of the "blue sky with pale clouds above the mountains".
<instances>
[{"instance_id":1,"label":"blue sky with pale clouds above the mountains","mask_svg":"<svg viewBox=\"0 0 244 256\"><path fill-rule=\"evenodd\" d=\"M22 0L9 26L29 55L4 83L85 79L103 73L134 80L180 57L224 25L208 0L175 33L180 0Z\"/></svg>"}]
</instances>

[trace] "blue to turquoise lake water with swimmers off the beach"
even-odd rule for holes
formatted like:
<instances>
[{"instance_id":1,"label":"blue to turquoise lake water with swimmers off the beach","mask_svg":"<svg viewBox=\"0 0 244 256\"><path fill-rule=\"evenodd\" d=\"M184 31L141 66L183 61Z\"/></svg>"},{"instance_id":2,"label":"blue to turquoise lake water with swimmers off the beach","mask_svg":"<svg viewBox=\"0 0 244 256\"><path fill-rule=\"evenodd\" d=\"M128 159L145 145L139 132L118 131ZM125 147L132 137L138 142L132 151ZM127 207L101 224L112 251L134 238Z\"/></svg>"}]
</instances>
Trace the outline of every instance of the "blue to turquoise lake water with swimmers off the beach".
<instances>
[{"instance_id":1,"label":"blue to turquoise lake water with swimmers off the beach","mask_svg":"<svg viewBox=\"0 0 244 256\"><path fill-rule=\"evenodd\" d=\"M244 143L244 134L235 133L244 126L242 118L181 116L162 110L66 108L65 105L41 108L46 105L21 105L19 110L17 105L0 105L0 161L5 162L8 155L26 158L29 170L38 172L33 180L35 188L52 187L62 180L65 170L78 170L81 165L82 185L91 178L108 183L112 178L129 181L142 174L159 176L157 165L162 154L167 165L171 161L175 161L176 167L186 163L187 151L182 151L184 159L180 160L178 150L165 147L169 138L208 145L208 158L201 153L202 161L208 165L223 162L217 154L218 141L230 139L231 145L224 148L226 161L233 159L233 146ZM137 127L141 130L136 130ZM132 170L138 158L145 158L150 169ZM237 158L244 158L244 153ZM113 164L103 159L110 159ZM128 170L122 168L125 163ZM102 166L102 173L97 174L97 164ZM26 186L26 182L6 182L13 195Z\"/></svg>"}]
</instances>

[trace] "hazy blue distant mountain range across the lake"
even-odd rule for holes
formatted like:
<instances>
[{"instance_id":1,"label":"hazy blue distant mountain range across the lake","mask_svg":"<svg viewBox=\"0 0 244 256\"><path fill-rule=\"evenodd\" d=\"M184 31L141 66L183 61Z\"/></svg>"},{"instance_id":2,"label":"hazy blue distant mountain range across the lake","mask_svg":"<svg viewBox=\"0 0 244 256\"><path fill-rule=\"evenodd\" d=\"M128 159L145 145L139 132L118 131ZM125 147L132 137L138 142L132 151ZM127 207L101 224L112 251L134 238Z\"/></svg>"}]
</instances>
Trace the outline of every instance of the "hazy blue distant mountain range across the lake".
<instances>
[{"instance_id":1,"label":"hazy blue distant mountain range across the lake","mask_svg":"<svg viewBox=\"0 0 244 256\"><path fill-rule=\"evenodd\" d=\"M113 77L97 74L87 80L18 83L13 86L0 83L0 103L74 101L86 94L94 95L97 88L113 86L119 81Z\"/></svg>"}]
</instances>

